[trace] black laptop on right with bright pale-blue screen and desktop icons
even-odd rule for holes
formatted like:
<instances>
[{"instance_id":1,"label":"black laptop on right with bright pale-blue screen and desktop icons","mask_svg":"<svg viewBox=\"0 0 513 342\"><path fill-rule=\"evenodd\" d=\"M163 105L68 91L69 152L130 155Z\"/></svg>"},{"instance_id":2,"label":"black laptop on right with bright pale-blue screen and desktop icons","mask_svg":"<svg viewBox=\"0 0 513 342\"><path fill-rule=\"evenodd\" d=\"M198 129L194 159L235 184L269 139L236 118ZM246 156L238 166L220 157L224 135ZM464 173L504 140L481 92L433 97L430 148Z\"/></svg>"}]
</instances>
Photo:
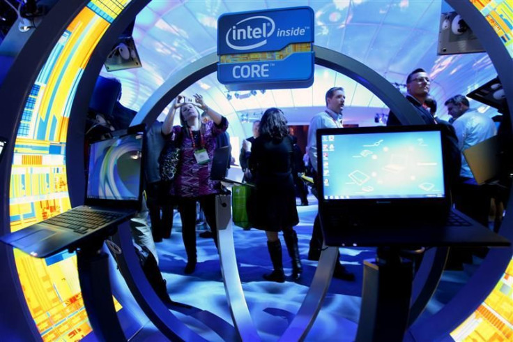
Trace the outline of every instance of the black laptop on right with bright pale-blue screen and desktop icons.
<instances>
[{"instance_id":1,"label":"black laptop on right with bright pale-blue screen and desktop icons","mask_svg":"<svg viewBox=\"0 0 513 342\"><path fill-rule=\"evenodd\" d=\"M498 243L452 208L444 142L440 125L319 129L319 218L326 244Z\"/></svg>"}]
</instances>

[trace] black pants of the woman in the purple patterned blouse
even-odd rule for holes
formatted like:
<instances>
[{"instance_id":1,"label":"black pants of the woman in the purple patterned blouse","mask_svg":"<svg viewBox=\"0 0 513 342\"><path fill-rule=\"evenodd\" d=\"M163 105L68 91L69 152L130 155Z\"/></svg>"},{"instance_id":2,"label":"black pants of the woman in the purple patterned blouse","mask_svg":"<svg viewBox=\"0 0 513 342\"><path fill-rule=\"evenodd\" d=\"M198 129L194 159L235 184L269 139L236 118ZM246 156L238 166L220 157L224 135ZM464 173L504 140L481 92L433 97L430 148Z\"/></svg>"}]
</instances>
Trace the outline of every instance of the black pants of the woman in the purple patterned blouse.
<instances>
[{"instance_id":1,"label":"black pants of the woman in the purple patterned blouse","mask_svg":"<svg viewBox=\"0 0 513 342\"><path fill-rule=\"evenodd\" d=\"M215 194L198 198L180 198L178 211L182 218L182 239L188 260L196 260L196 202L199 202L206 223L212 230L215 246L217 246L217 225L215 223Z\"/></svg>"}]
</instances>

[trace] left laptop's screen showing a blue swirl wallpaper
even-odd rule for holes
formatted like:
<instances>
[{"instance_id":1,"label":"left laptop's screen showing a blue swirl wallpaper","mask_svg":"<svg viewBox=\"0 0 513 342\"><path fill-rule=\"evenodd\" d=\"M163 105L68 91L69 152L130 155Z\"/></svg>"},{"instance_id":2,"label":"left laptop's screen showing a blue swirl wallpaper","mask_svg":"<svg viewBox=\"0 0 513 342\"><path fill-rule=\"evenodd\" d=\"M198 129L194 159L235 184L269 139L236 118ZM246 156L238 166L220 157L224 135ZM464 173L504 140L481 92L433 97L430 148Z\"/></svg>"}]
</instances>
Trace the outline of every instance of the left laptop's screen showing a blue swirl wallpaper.
<instances>
[{"instance_id":1,"label":"left laptop's screen showing a blue swirl wallpaper","mask_svg":"<svg viewBox=\"0 0 513 342\"><path fill-rule=\"evenodd\" d=\"M87 198L139 200L143 135L134 133L91 144Z\"/></svg>"}]
</instances>

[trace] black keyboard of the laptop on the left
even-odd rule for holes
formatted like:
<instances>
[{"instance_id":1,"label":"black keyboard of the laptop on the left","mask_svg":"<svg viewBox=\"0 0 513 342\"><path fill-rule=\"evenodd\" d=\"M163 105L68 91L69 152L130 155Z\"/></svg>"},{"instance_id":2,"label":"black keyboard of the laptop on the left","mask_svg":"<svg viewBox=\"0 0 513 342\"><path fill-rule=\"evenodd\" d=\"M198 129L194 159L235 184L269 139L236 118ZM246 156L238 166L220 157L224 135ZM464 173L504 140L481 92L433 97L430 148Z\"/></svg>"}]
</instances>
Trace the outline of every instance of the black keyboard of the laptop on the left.
<instances>
[{"instance_id":1,"label":"black keyboard of the laptop on the left","mask_svg":"<svg viewBox=\"0 0 513 342\"><path fill-rule=\"evenodd\" d=\"M115 221L121 216L123 214L76 208L49 218L45 223L57 225L60 228L67 228L79 234L86 234L91 230L96 230L107 223Z\"/></svg>"}]
</instances>

